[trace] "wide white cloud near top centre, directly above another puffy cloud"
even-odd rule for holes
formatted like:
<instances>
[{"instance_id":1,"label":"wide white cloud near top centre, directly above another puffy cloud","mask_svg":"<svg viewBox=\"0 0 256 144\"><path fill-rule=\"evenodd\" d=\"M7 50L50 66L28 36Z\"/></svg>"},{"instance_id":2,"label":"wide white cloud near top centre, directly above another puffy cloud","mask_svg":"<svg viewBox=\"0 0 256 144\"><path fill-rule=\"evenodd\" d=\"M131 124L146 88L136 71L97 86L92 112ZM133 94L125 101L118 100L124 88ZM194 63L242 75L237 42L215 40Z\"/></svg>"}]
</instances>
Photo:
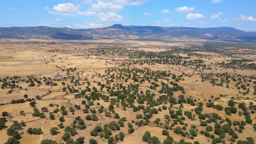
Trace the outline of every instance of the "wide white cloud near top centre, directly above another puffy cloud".
<instances>
[{"instance_id":1,"label":"wide white cloud near top centre, directly above another puffy cloud","mask_svg":"<svg viewBox=\"0 0 256 144\"><path fill-rule=\"evenodd\" d=\"M96 11L119 11L123 7L120 4L98 2L93 3L91 9Z\"/></svg>"}]
</instances>

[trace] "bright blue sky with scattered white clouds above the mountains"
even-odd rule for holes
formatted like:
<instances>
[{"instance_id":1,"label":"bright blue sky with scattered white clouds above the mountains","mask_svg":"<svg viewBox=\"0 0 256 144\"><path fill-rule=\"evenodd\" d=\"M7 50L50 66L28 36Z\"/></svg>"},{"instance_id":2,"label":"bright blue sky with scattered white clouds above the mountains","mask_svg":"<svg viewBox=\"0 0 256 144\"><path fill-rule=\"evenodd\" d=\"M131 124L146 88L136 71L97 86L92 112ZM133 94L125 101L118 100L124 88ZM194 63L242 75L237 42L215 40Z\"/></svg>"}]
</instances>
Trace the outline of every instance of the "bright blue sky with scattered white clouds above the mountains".
<instances>
[{"instance_id":1,"label":"bright blue sky with scattered white clouds above the mountains","mask_svg":"<svg viewBox=\"0 0 256 144\"><path fill-rule=\"evenodd\" d=\"M4 2L3 2L4 1ZM2 0L0 26L230 26L256 31L256 0Z\"/></svg>"}]
</instances>

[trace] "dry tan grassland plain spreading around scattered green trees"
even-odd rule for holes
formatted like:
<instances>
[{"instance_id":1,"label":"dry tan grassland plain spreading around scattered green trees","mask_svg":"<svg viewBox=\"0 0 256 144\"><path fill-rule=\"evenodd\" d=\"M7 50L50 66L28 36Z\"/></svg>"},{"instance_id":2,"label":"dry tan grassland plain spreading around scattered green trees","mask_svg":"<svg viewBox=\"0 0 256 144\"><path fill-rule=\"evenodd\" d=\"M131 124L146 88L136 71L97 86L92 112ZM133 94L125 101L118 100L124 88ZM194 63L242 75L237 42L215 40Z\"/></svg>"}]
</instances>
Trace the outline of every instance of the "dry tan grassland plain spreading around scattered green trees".
<instances>
[{"instance_id":1,"label":"dry tan grassland plain spreading around scattered green trees","mask_svg":"<svg viewBox=\"0 0 256 144\"><path fill-rule=\"evenodd\" d=\"M228 124L227 118L232 123L233 121L241 122L246 121L248 117L252 121L247 120L245 125L231 124L230 128L236 133L237 138L233 138L236 136L229 134L231 131L229 129L224 133L224 137L221 136L221 142L230 143L233 139L234 143L239 140L247 141L246 137L251 137L256 141L256 70L247 66L250 63L256 63L255 53L243 55L241 54L243 49L241 51L230 50L234 53L229 55L225 55L228 53L226 51L222 53L202 50L182 51L184 48L192 49L191 43L193 46L202 46L204 41L197 42L195 39L191 39L187 43L179 41L161 43L121 40L65 42L38 39L8 39L8 41L1 39L0 114L4 111L8 114L1 116L1 118L6 118L6 122L2 122L5 123L5 126L1 125L0 128L2 139L0 143L4 144L10 137L15 137L12 134L8 135L8 131L10 131L9 128L13 127L13 121L18 121L18 123L23 122L23 126L14 129L21 136L16 138L21 144L40 144L45 139L56 141L58 144L71 144L79 137L84 137L85 144L89 144L90 139L94 139L98 144L107 144L109 141L117 144L147 144L142 140L146 131L150 132L151 137L156 136L161 143L164 143L167 136L162 134L163 130L167 130L174 141L184 139L186 142L194 143L197 141L200 144L209 144L221 136L214 130L215 123ZM248 51L251 52L253 49ZM256 52L255 49L254 52ZM154 58L152 58L153 56ZM243 69L239 66L236 66L237 69L228 67L231 64L220 64L221 62L227 64L233 59L244 58L250 61L245 62ZM166 59L173 59L173 61L164 63ZM185 64L184 61L186 61ZM68 77L55 79L54 75L67 75ZM173 75L176 78L173 78ZM138 81L135 78L138 78ZM176 83L180 89L173 90L172 88L178 87L172 83ZM138 88L135 85L138 85ZM244 89L242 85L245 85ZM168 89L171 89L172 92L169 92ZM161 92L162 90L163 92ZM85 93L81 94L82 91ZM125 95L125 98L118 98L117 95L113 94L116 91L120 92L118 95ZM149 95L146 95L145 93L148 91L150 91ZM28 95L28 97L25 98L24 95ZM93 95L97 95L98 99L93 100ZM102 95L108 97L108 100L105 100ZM150 95L152 95L151 99ZM167 101L162 99L163 95L167 95ZM183 95L186 101L187 98L192 99L194 105L184 101L179 102L178 100L182 99L180 95ZM172 103L171 97L176 98L178 102ZM25 101L13 102L13 100L20 99ZM143 99L143 104L139 104L138 99ZM131 105L130 100L133 100ZM230 100L235 102L232 107L236 108L237 112L227 115L224 108L231 107L229 105ZM33 101L36 102L35 106L30 105ZM221 106L223 110L207 107L209 102ZM244 104L246 110L241 108L240 103ZM53 105L50 106L49 104ZM113 105L114 110L109 109L110 105ZM149 109L150 112L144 113L143 108L135 111L134 107L138 108L139 105L144 105L145 110ZM195 110L200 105L203 108L200 114L208 115L206 119L200 119L200 114L197 114ZM98 111L101 106L104 108L103 112ZM167 109L164 110L163 106ZM37 108L39 113L44 114L35 116L34 108ZM58 110L52 114L57 108ZM158 112L151 112L153 108L156 108ZM85 113L84 109L89 110L89 113ZM96 113L93 110L96 110ZM170 112L172 110L180 110L182 115L171 118L174 117ZM20 111L23 111L23 114ZM65 115L63 115L63 111L66 111ZM188 118L184 113L185 111L190 111L193 118ZM248 111L249 116L244 111ZM85 117L87 115L92 116L93 113L98 120L86 120ZM109 116L106 116L108 113ZM219 119L215 118L215 122L208 122L208 126L211 126L213 130L209 131L212 135L207 136L203 133L206 131L206 126L200 124L200 121L214 119L212 113L217 114ZM116 118L115 114L118 114L120 118L125 117L126 121ZM146 114L151 115L151 117L144 118ZM55 119L51 119L50 115L54 115ZM142 115L143 118L136 118L137 115ZM165 115L170 117L169 120L165 118ZM65 119L62 122L65 127L59 128L58 124L61 123L59 118L62 116ZM158 118L160 121L155 122ZM74 121L79 122L79 119L84 121L84 124L80 125L85 125L86 128L79 129L79 124L74 123ZM143 122L148 120L149 122L141 125L136 123L141 120ZM111 138L107 136L105 137L106 132L103 130L107 127L105 124L112 121L124 123L124 126L119 124L120 130L113 129L112 135L108 136L113 137L114 141L111 141ZM132 124L134 132L130 132L128 123ZM190 132L193 125L196 126L194 130L197 136L192 136L193 134ZM76 134L72 136L71 132L66 132L71 134L71 138L65 141L62 136L67 126L73 128ZM101 126L103 131L98 132L97 136L93 136L91 131L94 131L96 126ZM50 129L53 127L58 128L57 134L51 134ZM109 127L106 129L111 129ZM183 128L182 132L175 131L174 129L177 127ZM41 128L42 133L28 134L28 128ZM118 135L120 132L124 133L122 141Z\"/></svg>"}]
</instances>

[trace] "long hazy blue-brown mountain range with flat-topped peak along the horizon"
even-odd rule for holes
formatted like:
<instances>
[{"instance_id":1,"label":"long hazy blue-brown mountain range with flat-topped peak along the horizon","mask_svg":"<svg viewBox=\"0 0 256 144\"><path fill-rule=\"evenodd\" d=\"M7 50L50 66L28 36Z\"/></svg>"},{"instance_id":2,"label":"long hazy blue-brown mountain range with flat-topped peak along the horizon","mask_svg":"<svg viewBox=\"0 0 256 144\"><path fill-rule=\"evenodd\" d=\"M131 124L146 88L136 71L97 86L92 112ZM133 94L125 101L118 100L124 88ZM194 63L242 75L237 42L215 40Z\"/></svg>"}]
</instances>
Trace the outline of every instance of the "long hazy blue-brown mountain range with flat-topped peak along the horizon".
<instances>
[{"instance_id":1,"label":"long hazy blue-brown mountain range with flat-topped peak along the horizon","mask_svg":"<svg viewBox=\"0 0 256 144\"><path fill-rule=\"evenodd\" d=\"M236 42L256 42L256 32L245 32L233 27L161 27L161 26L112 26L95 29L72 29L48 26L0 27L0 38L11 39L168 39L194 38Z\"/></svg>"}]
</instances>

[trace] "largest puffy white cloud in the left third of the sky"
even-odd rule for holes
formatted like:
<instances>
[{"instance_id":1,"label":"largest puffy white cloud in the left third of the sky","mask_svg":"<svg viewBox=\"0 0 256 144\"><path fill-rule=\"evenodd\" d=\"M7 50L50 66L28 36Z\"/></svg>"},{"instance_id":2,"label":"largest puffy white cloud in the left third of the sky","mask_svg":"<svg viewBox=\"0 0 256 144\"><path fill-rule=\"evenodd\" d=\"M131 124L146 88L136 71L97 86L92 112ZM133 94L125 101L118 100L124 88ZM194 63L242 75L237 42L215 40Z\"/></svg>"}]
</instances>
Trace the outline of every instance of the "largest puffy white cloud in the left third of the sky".
<instances>
[{"instance_id":1,"label":"largest puffy white cloud in the left third of the sky","mask_svg":"<svg viewBox=\"0 0 256 144\"><path fill-rule=\"evenodd\" d=\"M57 6L53 6L53 10L62 13L75 13L78 12L80 9L80 5L73 4L73 3L60 3Z\"/></svg>"}]
</instances>

